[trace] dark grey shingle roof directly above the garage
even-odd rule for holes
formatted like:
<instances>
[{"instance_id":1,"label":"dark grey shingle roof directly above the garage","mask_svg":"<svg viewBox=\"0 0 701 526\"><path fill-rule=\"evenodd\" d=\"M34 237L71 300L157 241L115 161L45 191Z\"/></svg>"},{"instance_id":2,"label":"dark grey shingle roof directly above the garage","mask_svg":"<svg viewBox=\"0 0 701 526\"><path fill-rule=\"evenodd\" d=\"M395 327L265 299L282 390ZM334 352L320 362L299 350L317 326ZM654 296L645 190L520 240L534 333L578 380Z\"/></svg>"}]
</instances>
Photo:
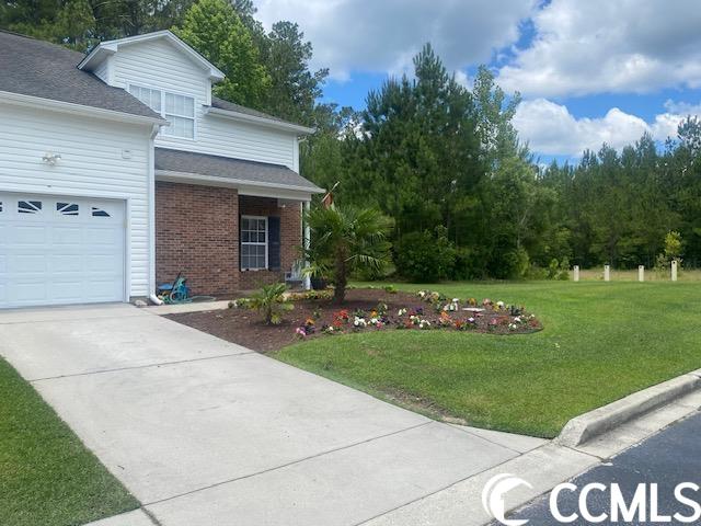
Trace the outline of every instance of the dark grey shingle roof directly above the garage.
<instances>
[{"instance_id":1,"label":"dark grey shingle roof directly above the garage","mask_svg":"<svg viewBox=\"0 0 701 526\"><path fill-rule=\"evenodd\" d=\"M82 59L62 46L0 31L0 91L161 117L123 89L78 69Z\"/></svg>"}]
</instances>

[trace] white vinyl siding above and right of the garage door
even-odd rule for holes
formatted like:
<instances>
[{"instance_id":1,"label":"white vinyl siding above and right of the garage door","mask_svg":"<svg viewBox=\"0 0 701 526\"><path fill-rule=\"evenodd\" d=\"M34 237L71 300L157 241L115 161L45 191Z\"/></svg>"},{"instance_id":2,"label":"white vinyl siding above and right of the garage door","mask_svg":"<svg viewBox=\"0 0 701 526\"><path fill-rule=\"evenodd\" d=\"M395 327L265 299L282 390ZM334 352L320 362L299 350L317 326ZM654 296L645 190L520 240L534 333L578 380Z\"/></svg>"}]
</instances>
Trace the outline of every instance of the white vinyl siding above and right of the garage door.
<instances>
[{"instance_id":1,"label":"white vinyl siding above and right of the garage door","mask_svg":"<svg viewBox=\"0 0 701 526\"><path fill-rule=\"evenodd\" d=\"M148 294L151 127L0 104L0 188L126 203L130 296ZM56 165L42 161L61 156Z\"/></svg>"}]
</instances>

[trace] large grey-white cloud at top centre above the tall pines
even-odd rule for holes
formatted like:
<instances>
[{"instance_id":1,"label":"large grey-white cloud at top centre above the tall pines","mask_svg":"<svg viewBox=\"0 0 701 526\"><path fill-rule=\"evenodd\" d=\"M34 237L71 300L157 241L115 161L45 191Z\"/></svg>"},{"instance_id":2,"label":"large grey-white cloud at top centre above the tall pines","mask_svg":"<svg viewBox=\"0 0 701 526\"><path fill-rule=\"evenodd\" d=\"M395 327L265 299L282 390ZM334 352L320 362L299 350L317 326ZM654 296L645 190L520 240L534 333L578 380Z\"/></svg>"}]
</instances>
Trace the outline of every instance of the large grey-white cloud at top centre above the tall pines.
<instances>
[{"instance_id":1,"label":"large grey-white cloud at top centre above the tall pines","mask_svg":"<svg viewBox=\"0 0 701 526\"><path fill-rule=\"evenodd\" d=\"M257 0L266 27L299 23L314 46L313 67L335 79L354 71L403 72L430 42L450 69L489 61L518 39L537 0Z\"/></svg>"}]
</instances>

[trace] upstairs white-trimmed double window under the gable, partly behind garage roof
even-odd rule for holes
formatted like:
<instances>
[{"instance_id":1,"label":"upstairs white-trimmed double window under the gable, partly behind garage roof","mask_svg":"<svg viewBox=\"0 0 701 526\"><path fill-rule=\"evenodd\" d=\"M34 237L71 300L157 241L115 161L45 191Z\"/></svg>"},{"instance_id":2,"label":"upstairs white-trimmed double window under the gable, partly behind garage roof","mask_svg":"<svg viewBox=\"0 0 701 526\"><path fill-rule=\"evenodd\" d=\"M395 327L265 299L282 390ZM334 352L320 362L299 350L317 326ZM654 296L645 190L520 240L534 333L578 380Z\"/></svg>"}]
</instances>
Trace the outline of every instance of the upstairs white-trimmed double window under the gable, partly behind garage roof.
<instances>
[{"instance_id":1,"label":"upstairs white-trimmed double window under the gable, partly behind garage roof","mask_svg":"<svg viewBox=\"0 0 701 526\"><path fill-rule=\"evenodd\" d=\"M135 84L129 84L129 93L170 123L162 128L163 135L195 138L195 98Z\"/></svg>"}]
</instances>

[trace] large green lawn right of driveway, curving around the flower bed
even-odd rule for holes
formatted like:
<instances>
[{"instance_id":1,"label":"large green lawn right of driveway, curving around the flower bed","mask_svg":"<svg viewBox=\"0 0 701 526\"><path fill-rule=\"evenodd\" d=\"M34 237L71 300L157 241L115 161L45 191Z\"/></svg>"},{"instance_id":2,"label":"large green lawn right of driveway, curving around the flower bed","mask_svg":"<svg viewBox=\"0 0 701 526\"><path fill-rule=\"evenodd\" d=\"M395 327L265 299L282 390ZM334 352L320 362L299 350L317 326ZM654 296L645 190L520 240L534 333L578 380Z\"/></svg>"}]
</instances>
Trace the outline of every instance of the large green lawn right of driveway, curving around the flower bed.
<instances>
[{"instance_id":1,"label":"large green lawn right of driveway, curving around the flower bed","mask_svg":"<svg viewBox=\"0 0 701 526\"><path fill-rule=\"evenodd\" d=\"M577 414L701 368L701 283L429 288L525 305L544 330L506 336L386 330L319 338L276 357L390 401L421 400L471 425L543 437Z\"/></svg>"}]
</instances>

